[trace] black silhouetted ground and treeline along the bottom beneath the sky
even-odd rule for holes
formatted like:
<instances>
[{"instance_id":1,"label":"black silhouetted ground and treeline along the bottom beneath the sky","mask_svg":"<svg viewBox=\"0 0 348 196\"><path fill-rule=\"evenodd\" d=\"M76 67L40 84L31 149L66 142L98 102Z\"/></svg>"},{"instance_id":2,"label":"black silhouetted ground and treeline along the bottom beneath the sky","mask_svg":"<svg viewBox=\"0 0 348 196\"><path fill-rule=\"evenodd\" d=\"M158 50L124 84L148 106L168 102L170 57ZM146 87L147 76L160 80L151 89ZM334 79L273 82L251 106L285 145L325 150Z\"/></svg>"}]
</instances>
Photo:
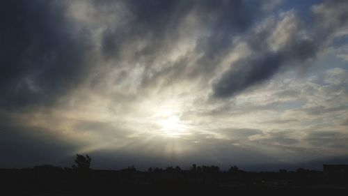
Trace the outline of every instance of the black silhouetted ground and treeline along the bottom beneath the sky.
<instances>
[{"instance_id":1,"label":"black silhouetted ground and treeline along the bottom beneath the sky","mask_svg":"<svg viewBox=\"0 0 348 196\"><path fill-rule=\"evenodd\" d=\"M6 195L119 195L118 193L235 193L236 191L348 190L347 171L321 172L296 169L288 172L244 172L216 166L121 170L61 168L41 165L27 169L0 169L0 187Z\"/></svg>"}]
</instances>

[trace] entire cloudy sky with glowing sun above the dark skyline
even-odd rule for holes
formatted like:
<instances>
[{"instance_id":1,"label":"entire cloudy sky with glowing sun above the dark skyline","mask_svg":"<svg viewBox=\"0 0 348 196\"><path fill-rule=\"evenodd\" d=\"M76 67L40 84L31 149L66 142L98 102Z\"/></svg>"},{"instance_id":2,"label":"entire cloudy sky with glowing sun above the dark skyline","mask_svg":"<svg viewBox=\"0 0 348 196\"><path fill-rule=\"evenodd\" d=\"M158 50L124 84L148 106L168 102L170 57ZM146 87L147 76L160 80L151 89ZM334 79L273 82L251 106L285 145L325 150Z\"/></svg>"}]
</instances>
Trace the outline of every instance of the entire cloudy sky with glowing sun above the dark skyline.
<instances>
[{"instance_id":1,"label":"entire cloudy sky with glowing sun above the dark skyline","mask_svg":"<svg viewBox=\"0 0 348 196\"><path fill-rule=\"evenodd\" d=\"M348 163L348 1L0 3L0 167Z\"/></svg>"}]
</instances>

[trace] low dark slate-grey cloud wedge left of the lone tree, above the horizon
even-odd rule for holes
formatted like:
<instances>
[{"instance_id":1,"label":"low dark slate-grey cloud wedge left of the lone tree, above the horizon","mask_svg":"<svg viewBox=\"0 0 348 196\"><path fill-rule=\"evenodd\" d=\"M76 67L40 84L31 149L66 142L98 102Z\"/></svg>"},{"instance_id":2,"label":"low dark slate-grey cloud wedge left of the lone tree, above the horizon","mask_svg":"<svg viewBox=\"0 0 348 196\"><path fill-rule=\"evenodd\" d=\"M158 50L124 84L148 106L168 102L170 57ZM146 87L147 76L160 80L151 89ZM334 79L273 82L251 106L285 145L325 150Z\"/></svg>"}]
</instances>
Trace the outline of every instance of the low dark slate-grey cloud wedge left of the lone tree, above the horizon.
<instances>
[{"instance_id":1,"label":"low dark slate-grey cloud wedge left of the lone tree, above the horizon","mask_svg":"<svg viewBox=\"0 0 348 196\"><path fill-rule=\"evenodd\" d=\"M33 167L52 164L70 167L74 153L86 145L61 133L28 126L0 114L0 167Z\"/></svg>"}]
</instances>

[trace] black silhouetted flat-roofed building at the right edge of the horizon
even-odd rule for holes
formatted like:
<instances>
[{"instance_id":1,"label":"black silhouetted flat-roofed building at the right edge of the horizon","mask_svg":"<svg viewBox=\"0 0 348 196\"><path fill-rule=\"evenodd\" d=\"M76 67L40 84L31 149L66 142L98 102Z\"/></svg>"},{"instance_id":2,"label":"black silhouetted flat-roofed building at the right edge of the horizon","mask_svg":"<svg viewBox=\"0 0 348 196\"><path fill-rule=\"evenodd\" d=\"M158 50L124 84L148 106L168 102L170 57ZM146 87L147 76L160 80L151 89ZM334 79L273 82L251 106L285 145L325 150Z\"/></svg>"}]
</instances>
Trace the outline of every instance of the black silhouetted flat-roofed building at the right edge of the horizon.
<instances>
[{"instance_id":1,"label":"black silhouetted flat-roofed building at the right edge of the horizon","mask_svg":"<svg viewBox=\"0 0 348 196\"><path fill-rule=\"evenodd\" d=\"M323 165L327 182L348 186L348 165Z\"/></svg>"}]
</instances>

